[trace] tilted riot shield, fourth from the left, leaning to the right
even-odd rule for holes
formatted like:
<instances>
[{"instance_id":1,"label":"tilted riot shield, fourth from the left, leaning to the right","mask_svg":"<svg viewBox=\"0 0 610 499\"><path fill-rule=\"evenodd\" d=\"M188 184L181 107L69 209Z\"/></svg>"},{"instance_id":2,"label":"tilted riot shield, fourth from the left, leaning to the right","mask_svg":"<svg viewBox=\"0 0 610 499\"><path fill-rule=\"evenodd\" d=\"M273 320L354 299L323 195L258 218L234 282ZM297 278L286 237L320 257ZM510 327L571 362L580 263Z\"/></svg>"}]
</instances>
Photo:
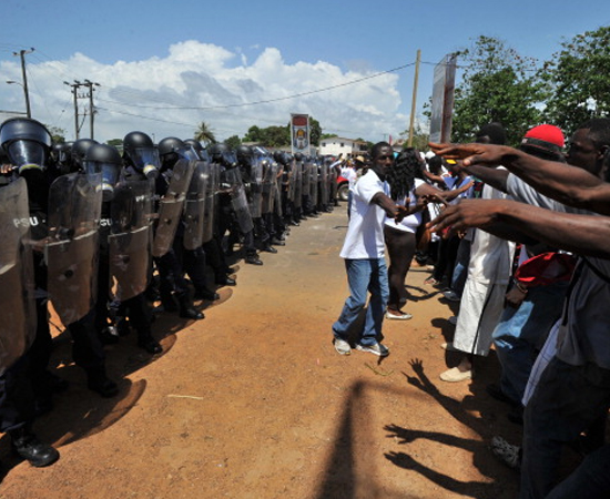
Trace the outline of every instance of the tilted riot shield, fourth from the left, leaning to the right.
<instances>
[{"instance_id":1,"label":"tilted riot shield, fourth from the left, leaning to the right","mask_svg":"<svg viewBox=\"0 0 610 499\"><path fill-rule=\"evenodd\" d=\"M152 247L154 257L163 256L172 247L195 164L194 160L180 160L172 169L167 192L159 203L159 223Z\"/></svg>"}]
</instances>

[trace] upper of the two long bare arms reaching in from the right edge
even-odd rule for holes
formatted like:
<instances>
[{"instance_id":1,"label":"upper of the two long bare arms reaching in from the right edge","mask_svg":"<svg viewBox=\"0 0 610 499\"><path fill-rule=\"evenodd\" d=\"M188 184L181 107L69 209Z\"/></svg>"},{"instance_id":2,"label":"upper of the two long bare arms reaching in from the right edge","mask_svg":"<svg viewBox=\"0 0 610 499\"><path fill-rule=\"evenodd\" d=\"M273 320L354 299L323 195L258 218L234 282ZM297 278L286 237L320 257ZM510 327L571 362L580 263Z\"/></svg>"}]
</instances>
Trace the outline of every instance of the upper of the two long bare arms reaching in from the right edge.
<instances>
[{"instance_id":1,"label":"upper of the two long bare arms reaching in from the right edge","mask_svg":"<svg viewBox=\"0 0 610 499\"><path fill-rule=\"evenodd\" d=\"M568 206L610 215L610 184L586 170L546 161L506 145L429 144L436 154L464 160L464 166L504 165L541 194Z\"/></svg>"}]
</instances>

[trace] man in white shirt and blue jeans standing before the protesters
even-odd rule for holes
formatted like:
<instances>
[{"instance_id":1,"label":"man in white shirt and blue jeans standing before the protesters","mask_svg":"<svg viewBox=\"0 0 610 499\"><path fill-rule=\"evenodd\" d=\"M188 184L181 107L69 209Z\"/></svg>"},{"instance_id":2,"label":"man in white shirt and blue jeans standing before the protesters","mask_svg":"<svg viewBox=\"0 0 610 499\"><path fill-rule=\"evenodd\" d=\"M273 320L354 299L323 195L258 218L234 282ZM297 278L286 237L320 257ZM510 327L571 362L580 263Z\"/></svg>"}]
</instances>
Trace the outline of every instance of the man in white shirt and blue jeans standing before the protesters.
<instances>
[{"instance_id":1,"label":"man in white shirt and blue jeans standing before the protesters","mask_svg":"<svg viewBox=\"0 0 610 499\"><path fill-rule=\"evenodd\" d=\"M340 355L349 355L352 347L348 333L365 307L368 292L370 301L366 310L364 329L356 340L356 349L378 356L389 350L382 345L382 323L389 296L387 268L384 258L384 220L401 220L407 212L389 196L386 179L394 164L394 152L387 142L373 146L373 166L355 184L345 242L340 251L345 259L349 297L345 301L342 314L333 324L335 349Z\"/></svg>"}]
</instances>

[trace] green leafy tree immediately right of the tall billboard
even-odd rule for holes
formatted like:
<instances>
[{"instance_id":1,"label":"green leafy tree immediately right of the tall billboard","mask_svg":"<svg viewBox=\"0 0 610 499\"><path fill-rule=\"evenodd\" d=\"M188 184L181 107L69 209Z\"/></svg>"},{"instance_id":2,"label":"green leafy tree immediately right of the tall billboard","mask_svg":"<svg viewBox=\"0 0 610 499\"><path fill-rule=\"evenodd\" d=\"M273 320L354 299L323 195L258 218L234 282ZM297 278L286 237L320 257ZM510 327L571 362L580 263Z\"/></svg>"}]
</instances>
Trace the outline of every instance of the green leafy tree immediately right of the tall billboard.
<instances>
[{"instance_id":1,"label":"green leafy tree immediately right of the tall billboard","mask_svg":"<svg viewBox=\"0 0 610 499\"><path fill-rule=\"evenodd\" d=\"M471 140L481 125L496 121L506 128L508 143L517 145L542 120L538 105L546 93L536 61L485 35L458 55L466 70L455 93L453 140Z\"/></svg>"}]
</instances>

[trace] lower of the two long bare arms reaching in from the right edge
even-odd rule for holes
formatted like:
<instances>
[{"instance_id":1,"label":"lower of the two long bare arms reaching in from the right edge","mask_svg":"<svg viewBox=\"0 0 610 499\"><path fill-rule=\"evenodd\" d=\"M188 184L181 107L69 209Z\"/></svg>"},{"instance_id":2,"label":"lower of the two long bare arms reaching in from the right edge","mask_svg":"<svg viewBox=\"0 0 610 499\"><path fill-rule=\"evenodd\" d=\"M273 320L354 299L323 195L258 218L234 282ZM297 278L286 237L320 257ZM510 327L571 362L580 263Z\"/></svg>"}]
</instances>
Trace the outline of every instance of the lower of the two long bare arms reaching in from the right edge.
<instances>
[{"instance_id":1,"label":"lower of the two long bare arms reaching in from the right edge","mask_svg":"<svg viewBox=\"0 0 610 499\"><path fill-rule=\"evenodd\" d=\"M428 224L436 232L479 227L491 233L495 225L515 227L555 247L610 259L610 218L604 216L553 212L509 200L465 200L447 206Z\"/></svg>"}]
</instances>

